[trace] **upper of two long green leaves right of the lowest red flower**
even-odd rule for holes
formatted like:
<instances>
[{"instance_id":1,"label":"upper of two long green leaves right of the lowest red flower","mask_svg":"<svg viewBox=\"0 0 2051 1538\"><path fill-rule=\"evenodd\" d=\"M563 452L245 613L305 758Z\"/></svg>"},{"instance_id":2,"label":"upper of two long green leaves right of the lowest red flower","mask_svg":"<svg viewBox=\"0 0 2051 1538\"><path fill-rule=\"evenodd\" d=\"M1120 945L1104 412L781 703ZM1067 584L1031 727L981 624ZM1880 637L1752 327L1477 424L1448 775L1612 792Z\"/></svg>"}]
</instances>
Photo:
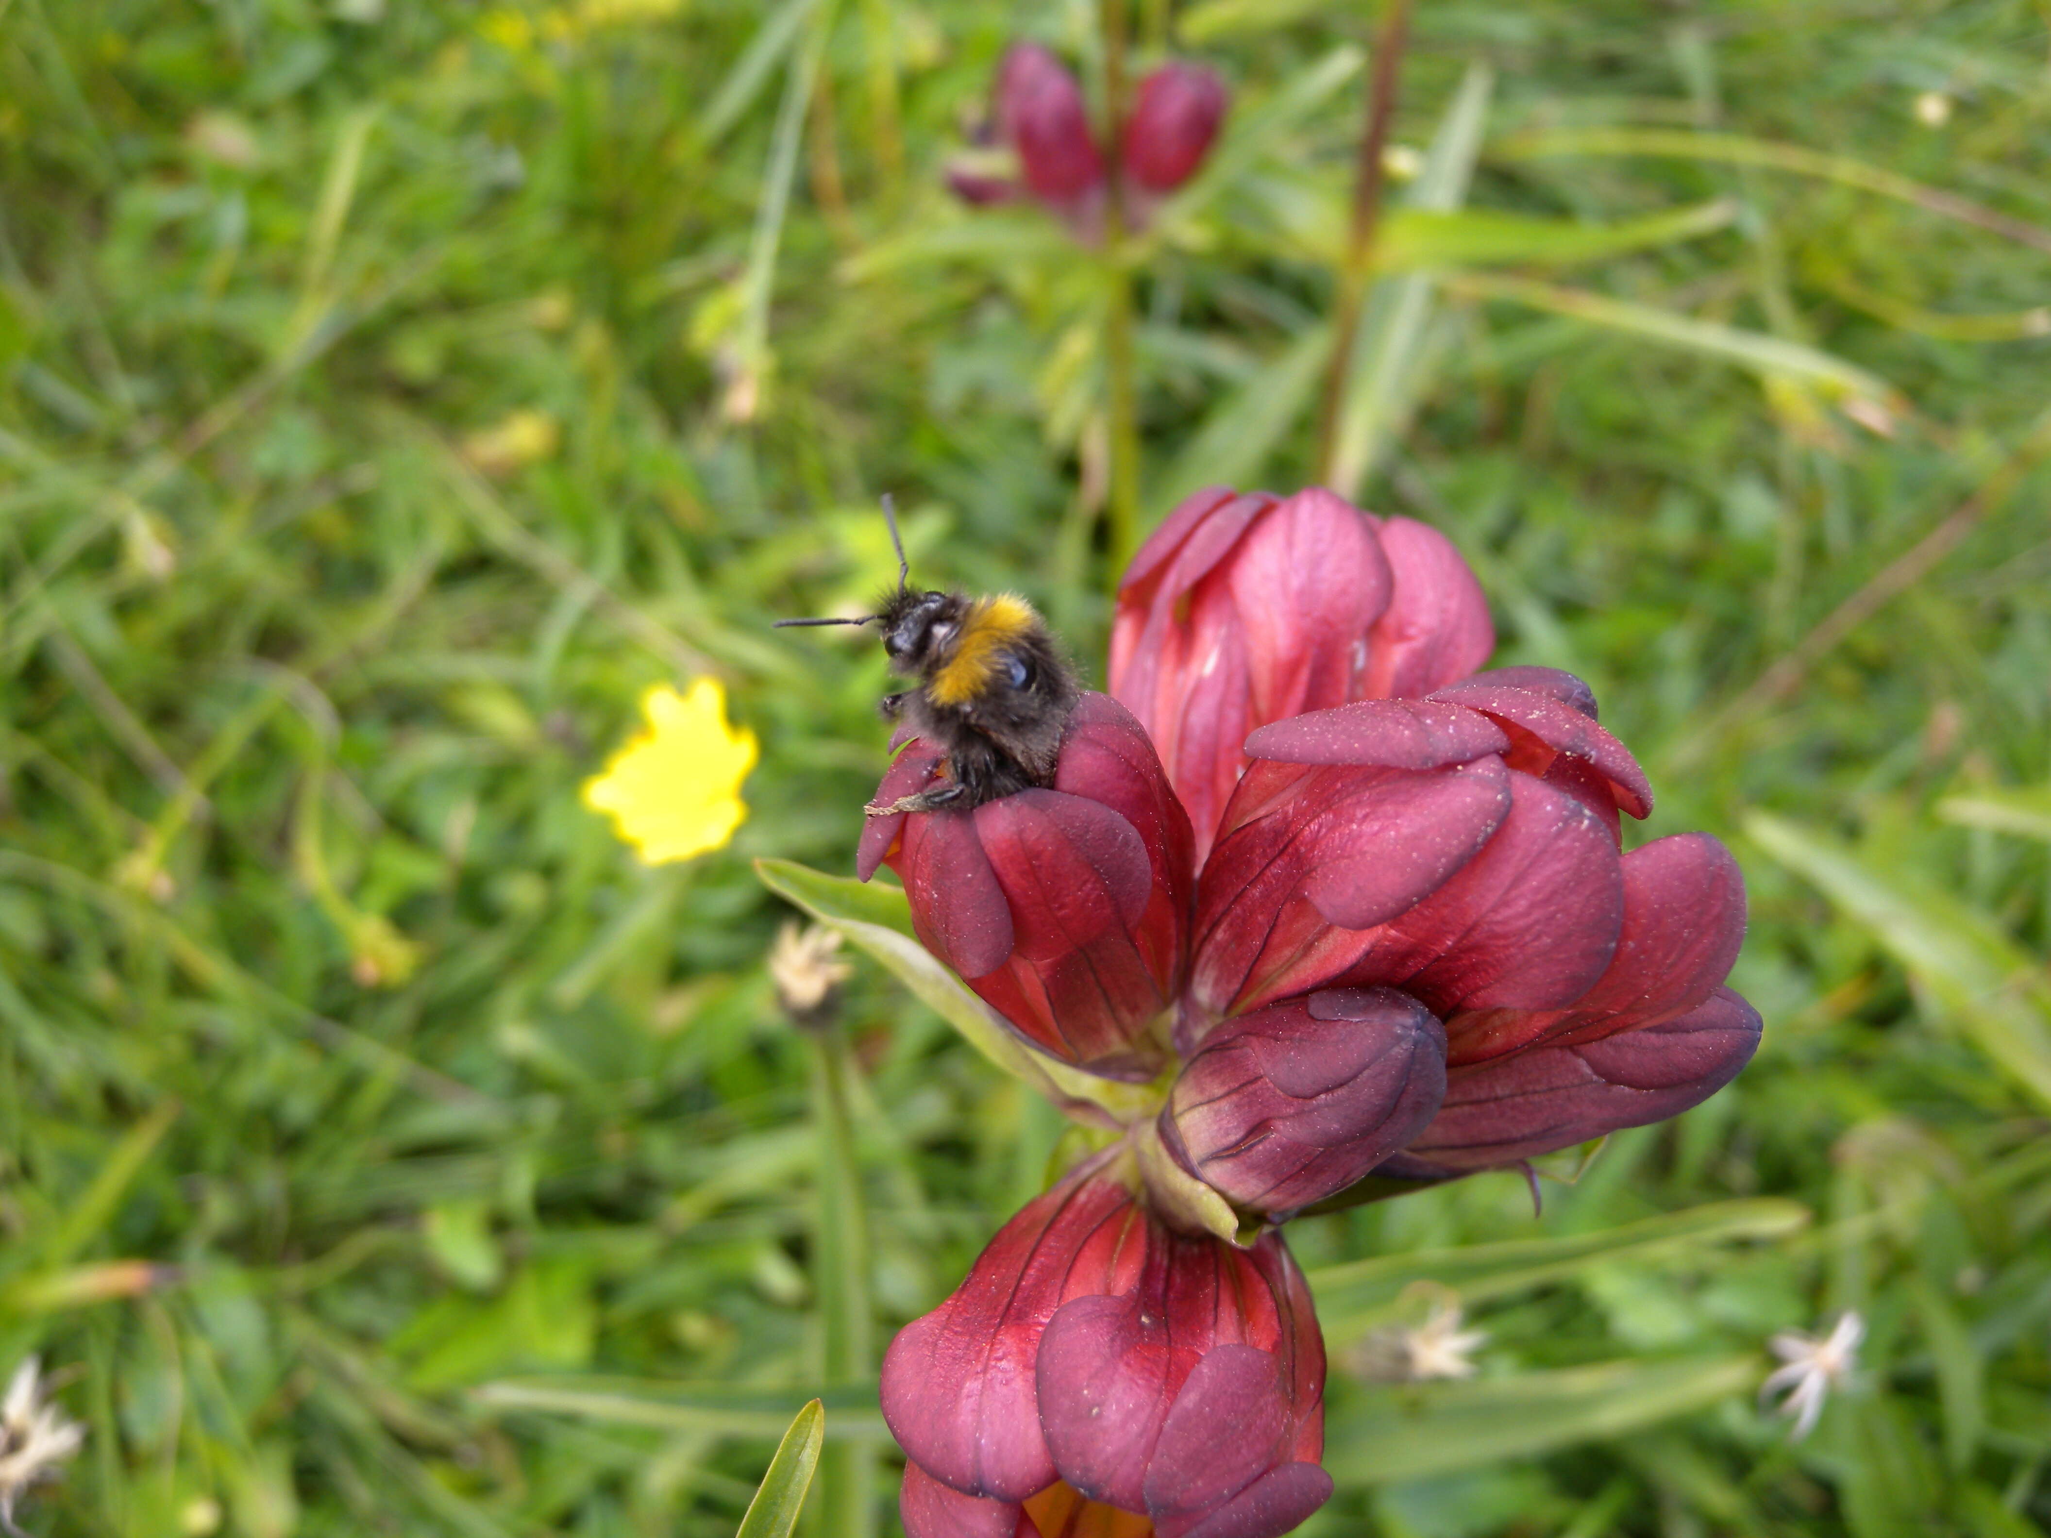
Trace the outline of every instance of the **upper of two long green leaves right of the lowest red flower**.
<instances>
[{"instance_id":1,"label":"upper of two long green leaves right of the lowest red flower","mask_svg":"<svg viewBox=\"0 0 2051 1538\"><path fill-rule=\"evenodd\" d=\"M1325 1335L1348 1339L1382 1323L1399 1294L1417 1282L1436 1282L1473 1304L1563 1282L1618 1259L1653 1261L1713 1245L1784 1239L1807 1222L1809 1208L1780 1198L1711 1202L1594 1235L1510 1239L1495 1245L1425 1249L1415 1255L1376 1255L1350 1265L1323 1265L1309 1271L1306 1280L1317 1296Z\"/></svg>"}]
</instances>

